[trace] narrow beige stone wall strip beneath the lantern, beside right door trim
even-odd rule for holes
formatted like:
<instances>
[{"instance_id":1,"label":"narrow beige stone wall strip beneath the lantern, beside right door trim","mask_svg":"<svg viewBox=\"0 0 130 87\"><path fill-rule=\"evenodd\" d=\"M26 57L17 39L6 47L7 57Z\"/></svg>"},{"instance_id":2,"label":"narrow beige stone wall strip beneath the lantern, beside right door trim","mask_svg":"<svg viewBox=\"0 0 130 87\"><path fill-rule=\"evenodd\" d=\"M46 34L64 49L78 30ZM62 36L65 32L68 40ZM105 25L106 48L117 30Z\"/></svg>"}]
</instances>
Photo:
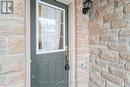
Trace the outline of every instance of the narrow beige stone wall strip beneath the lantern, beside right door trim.
<instances>
[{"instance_id":1,"label":"narrow beige stone wall strip beneath the lantern, beside right door trim","mask_svg":"<svg viewBox=\"0 0 130 87\"><path fill-rule=\"evenodd\" d=\"M81 68L81 64L89 65L88 45L88 15L82 14L82 0L75 0L76 10L76 87L88 87L88 68Z\"/></svg>"}]
</instances>

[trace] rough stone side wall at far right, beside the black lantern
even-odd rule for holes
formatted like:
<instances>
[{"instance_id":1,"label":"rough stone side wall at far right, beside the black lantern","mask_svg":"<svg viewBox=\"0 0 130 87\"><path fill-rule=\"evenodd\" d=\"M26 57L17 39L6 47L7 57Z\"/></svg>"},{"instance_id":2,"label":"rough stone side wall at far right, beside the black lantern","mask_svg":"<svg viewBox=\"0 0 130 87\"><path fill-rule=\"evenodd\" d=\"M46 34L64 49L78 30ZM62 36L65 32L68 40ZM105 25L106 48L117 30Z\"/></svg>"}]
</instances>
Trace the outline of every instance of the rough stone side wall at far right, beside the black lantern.
<instances>
[{"instance_id":1,"label":"rough stone side wall at far right, beside the black lantern","mask_svg":"<svg viewBox=\"0 0 130 87\"><path fill-rule=\"evenodd\" d=\"M93 0L89 87L130 87L130 0Z\"/></svg>"}]
</instances>

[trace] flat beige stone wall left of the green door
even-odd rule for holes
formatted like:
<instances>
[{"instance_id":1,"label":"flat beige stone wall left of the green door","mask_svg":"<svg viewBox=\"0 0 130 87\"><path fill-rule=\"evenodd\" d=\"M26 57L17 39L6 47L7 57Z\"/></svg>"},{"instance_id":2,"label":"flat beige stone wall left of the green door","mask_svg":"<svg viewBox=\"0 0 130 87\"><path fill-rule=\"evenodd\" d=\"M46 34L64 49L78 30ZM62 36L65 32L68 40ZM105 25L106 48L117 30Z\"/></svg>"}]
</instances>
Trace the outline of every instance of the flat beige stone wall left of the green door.
<instances>
[{"instance_id":1,"label":"flat beige stone wall left of the green door","mask_svg":"<svg viewBox=\"0 0 130 87\"><path fill-rule=\"evenodd\" d=\"M0 87L25 87L25 43L25 0L15 0L14 14L0 13Z\"/></svg>"}]
</instances>

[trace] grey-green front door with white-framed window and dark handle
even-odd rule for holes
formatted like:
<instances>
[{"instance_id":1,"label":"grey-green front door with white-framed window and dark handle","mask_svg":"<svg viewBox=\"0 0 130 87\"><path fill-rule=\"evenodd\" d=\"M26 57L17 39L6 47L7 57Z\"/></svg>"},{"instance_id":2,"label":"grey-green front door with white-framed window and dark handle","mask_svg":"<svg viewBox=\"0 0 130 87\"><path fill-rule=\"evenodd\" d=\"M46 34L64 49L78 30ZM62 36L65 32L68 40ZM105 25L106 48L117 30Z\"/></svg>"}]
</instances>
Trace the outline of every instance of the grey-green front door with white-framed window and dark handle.
<instances>
[{"instance_id":1,"label":"grey-green front door with white-framed window and dark handle","mask_svg":"<svg viewBox=\"0 0 130 87\"><path fill-rule=\"evenodd\" d=\"M67 6L31 0L31 87L68 87Z\"/></svg>"}]
</instances>

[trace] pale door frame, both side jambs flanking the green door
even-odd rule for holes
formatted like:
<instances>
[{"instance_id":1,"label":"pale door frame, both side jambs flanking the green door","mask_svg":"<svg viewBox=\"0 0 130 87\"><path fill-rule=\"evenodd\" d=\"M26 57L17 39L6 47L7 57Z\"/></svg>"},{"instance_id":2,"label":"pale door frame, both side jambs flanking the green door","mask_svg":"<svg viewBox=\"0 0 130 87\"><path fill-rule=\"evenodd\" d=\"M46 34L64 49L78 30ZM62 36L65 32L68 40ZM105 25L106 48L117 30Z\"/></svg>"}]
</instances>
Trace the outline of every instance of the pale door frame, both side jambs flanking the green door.
<instances>
[{"instance_id":1,"label":"pale door frame, both side jambs flanking the green door","mask_svg":"<svg viewBox=\"0 0 130 87\"><path fill-rule=\"evenodd\" d=\"M31 87L31 30L30 30L30 0L26 0L25 5L25 29L26 29L26 87ZM69 13L69 87L75 87L75 59L76 59L76 28L75 28L75 0L68 5ZM73 34L72 34L73 33Z\"/></svg>"}]
</instances>

